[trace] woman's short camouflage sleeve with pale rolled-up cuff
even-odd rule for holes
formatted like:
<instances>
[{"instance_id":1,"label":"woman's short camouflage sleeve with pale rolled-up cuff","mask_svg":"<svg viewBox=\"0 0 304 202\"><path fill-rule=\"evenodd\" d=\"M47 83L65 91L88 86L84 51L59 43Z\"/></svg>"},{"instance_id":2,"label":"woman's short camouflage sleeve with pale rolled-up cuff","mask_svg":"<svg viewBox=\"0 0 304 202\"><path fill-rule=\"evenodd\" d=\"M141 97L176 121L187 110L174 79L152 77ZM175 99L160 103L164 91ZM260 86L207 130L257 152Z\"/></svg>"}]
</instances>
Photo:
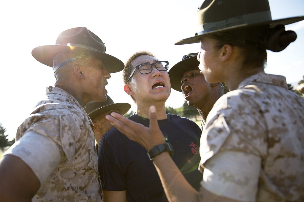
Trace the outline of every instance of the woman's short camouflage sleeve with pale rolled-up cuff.
<instances>
[{"instance_id":1,"label":"woman's short camouflage sleeve with pale rolled-up cuff","mask_svg":"<svg viewBox=\"0 0 304 202\"><path fill-rule=\"evenodd\" d=\"M248 180L248 190L246 192L255 194L257 189L255 181L258 180L258 176L253 174L247 178L246 174L242 174L242 172L240 172L240 176L237 176L237 174L232 175L231 173L234 170L238 170L240 166L245 167L245 164L250 165L257 172L260 171L260 161L263 156L267 155L267 127L264 117L260 113L257 103L249 97L247 98L246 95L240 96L238 94L238 96L228 98L222 96L218 101L220 102L217 102L210 111L206 128L202 133L200 170L204 176L206 175L205 177L210 176L208 172L218 175L214 176L215 178L212 178L212 180L225 177L225 180L229 181L229 183L225 184L229 184L231 189L234 189L235 195L237 194L237 189L235 188L237 186L234 184ZM231 167L226 168L225 165L221 165L223 159L218 159L217 155L219 153L233 153L234 156L230 159L231 164L229 165ZM239 159L242 161L237 163ZM248 161L250 161L250 164ZM211 166L218 163L219 166L223 167L222 169L227 169L227 173ZM206 180L208 181L208 177ZM211 179L209 178L209 180Z\"/></svg>"}]
</instances>

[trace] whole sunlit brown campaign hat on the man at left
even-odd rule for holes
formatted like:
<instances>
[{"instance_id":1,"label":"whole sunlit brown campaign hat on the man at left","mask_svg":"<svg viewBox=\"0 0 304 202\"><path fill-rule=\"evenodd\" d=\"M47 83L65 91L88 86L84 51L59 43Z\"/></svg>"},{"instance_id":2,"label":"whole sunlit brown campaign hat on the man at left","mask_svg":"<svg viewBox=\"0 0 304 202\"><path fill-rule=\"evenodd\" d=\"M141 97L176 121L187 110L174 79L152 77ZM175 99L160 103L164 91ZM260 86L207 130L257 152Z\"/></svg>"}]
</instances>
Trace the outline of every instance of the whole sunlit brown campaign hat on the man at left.
<instances>
[{"instance_id":1,"label":"whole sunlit brown campaign hat on the man at left","mask_svg":"<svg viewBox=\"0 0 304 202\"><path fill-rule=\"evenodd\" d=\"M56 53L72 52L92 55L101 59L109 73L123 70L124 64L119 59L105 53L105 44L86 27L71 28L61 32L56 45L44 45L33 49L32 55L39 62L53 67Z\"/></svg>"}]
</instances>

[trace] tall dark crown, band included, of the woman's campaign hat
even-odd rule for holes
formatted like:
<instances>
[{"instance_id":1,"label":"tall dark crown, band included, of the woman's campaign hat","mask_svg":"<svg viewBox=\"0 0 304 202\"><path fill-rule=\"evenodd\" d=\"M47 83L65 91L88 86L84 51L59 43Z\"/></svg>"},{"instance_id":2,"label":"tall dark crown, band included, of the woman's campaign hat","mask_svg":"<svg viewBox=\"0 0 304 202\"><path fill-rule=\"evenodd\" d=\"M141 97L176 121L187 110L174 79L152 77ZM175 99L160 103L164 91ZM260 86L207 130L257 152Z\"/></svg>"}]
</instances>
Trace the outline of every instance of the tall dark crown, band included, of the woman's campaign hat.
<instances>
[{"instance_id":1,"label":"tall dark crown, band included, of the woman's campaign hat","mask_svg":"<svg viewBox=\"0 0 304 202\"><path fill-rule=\"evenodd\" d=\"M271 20L268 0L205 0L198 10L199 24L211 31Z\"/></svg>"}]
</instances>

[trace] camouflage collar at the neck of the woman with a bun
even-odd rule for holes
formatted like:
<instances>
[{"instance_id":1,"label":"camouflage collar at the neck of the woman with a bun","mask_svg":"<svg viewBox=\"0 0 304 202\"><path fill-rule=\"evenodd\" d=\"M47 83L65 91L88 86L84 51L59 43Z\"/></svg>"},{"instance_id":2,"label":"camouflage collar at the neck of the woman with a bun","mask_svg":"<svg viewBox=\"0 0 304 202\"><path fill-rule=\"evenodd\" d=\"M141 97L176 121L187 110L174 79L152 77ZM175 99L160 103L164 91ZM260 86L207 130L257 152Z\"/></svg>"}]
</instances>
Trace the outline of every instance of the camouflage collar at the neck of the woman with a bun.
<instances>
[{"instance_id":1,"label":"camouflage collar at the neck of the woman with a bun","mask_svg":"<svg viewBox=\"0 0 304 202\"><path fill-rule=\"evenodd\" d=\"M264 83L271 84L276 86L281 86L283 88L287 88L286 78L281 75L271 75L266 74L265 72L259 72L255 75L252 75L242 81L237 89L244 88L244 86L251 85L254 83Z\"/></svg>"}]
</instances>

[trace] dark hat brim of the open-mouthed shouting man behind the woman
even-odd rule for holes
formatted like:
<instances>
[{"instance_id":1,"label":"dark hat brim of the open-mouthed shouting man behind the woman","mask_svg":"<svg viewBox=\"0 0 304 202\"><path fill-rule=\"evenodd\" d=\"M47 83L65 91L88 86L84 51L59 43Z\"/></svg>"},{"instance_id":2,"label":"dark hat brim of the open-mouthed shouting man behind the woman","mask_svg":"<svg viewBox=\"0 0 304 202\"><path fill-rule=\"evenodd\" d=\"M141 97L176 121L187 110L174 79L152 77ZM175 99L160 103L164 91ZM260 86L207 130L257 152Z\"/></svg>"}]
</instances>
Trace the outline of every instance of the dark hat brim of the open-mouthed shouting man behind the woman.
<instances>
[{"instance_id":1,"label":"dark hat brim of the open-mouthed shouting man behind the woman","mask_svg":"<svg viewBox=\"0 0 304 202\"><path fill-rule=\"evenodd\" d=\"M181 92L181 75L190 68L199 69L199 61L197 57L187 58L176 63L169 71L171 88Z\"/></svg>"}]
</instances>

